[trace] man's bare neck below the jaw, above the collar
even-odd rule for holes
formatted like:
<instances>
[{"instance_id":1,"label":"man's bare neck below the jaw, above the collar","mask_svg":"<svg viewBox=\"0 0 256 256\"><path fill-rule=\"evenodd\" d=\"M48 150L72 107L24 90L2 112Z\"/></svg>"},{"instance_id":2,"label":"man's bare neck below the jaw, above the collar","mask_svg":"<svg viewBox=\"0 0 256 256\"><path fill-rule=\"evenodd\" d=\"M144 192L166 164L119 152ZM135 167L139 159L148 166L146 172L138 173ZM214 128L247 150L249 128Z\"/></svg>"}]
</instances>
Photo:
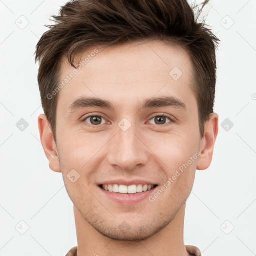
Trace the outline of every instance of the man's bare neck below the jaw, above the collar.
<instances>
[{"instance_id":1,"label":"man's bare neck below the jaw, above the collar","mask_svg":"<svg viewBox=\"0 0 256 256\"><path fill-rule=\"evenodd\" d=\"M77 234L77 256L188 256L183 241L185 204L173 220L153 236L141 241L119 241L108 238L95 230L74 206Z\"/></svg>"}]
</instances>

